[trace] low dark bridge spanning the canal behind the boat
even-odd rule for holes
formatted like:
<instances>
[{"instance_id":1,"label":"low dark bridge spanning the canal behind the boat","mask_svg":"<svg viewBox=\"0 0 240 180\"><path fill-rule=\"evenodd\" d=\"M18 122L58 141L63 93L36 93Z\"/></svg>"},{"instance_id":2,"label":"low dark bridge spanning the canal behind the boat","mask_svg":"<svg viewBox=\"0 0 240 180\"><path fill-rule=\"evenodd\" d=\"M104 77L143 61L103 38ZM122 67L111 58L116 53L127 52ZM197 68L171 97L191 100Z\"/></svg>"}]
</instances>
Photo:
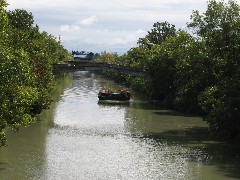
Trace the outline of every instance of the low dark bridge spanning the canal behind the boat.
<instances>
[{"instance_id":1,"label":"low dark bridge spanning the canal behind the boat","mask_svg":"<svg viewBox=\"0 0 240 180\"><path fill-rule=\"evenodd\" d=\"M139 68L126 67L115 64L94 61L67 61L66 64L53 64L53 72L71 72L71 71L108 71L122 74L129 74L135 77L148 79L148 74Z\"/></svg>"}]
</instances>

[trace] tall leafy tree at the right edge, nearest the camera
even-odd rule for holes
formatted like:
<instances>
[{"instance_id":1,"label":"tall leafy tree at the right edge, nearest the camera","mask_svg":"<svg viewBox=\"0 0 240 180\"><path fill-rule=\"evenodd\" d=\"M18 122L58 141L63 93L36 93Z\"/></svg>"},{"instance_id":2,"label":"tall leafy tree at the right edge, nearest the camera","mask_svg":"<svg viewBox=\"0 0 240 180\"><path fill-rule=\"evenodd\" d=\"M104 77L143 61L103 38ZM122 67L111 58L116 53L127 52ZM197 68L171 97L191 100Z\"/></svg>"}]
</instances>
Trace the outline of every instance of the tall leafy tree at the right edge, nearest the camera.
<instances>
[{"instance_id":1,"label":"tall leafy tree at the right edge, nearest the camera","mask_svg":"<svg viewBox=\"0 0 240 180\"><path fill-rule=\"evenodd\" d=\"M206 44L214 81L199 96L211 129L224 137L240 137L240 7L235 1L211 0L203 15L194 11L189 27Z\"/></svg>"}]
</instances>

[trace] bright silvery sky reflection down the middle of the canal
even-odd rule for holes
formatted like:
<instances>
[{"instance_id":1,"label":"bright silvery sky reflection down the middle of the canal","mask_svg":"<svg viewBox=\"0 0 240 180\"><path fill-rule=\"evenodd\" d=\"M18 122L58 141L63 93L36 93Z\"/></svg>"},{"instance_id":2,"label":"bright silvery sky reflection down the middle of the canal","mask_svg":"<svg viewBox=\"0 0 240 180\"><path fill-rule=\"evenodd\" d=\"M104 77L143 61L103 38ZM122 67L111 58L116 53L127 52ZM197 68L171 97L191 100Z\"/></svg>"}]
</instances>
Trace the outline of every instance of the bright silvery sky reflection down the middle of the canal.
<instances>
[{"instance_id":1,"label":"bright silvery sky reflection down the middle of the canal","mask_svg":"<svg viewBox=\"0 0 240 180\"><path fill-rule=\"evenodd\" d=\"M74 78L49 130L42 179L185 180L196 177L196 167L207 162L201 149L131 131L128 126L138 125L135 116L126 116L131 106L97 104L97 92L106 82L88 73Z\"/></svg>"}]
</instances>

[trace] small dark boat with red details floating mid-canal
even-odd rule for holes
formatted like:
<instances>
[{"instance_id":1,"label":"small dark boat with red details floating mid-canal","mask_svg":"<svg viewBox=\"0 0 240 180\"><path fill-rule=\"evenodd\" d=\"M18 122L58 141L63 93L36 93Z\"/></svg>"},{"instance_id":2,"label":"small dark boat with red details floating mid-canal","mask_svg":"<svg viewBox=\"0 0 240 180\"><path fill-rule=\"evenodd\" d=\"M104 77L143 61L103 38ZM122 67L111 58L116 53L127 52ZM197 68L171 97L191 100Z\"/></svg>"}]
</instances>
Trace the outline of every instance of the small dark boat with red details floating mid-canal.
<instances>
[{"instance_id":1,"label":"small dark boat with red details floating mid-canal","mask_svg":"<svg viewBox=\"0 0 240 180\"><path fill-rule=\"evenodd\" d=\"M118 90L116 92L112 92L110 90L102 90L98 93L99 100L105 101L129 101L131 94L127 90Z\"/></svg>"}]
</instances>

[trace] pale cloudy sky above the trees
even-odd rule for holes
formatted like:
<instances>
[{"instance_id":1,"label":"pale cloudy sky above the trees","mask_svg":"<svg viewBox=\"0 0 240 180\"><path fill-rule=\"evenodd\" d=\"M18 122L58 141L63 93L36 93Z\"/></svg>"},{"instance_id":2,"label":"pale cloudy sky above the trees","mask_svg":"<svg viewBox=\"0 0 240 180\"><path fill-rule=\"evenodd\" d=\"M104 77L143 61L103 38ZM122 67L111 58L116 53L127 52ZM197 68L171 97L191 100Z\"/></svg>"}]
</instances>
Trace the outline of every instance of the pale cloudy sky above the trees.
<instances>
[{"instance_id":1,"label":"pale cloudy sky above the trees","mask_svg":"<svg viewBox=\"0 0 240 180\"><path fill-rule=\"evenodd\" d=\"M207 0L7 0L8 10L24 9L40 31L61 39L69 51L126 53L155 22L186 28L193 10Z\"/></svg>"}]
</instances>

